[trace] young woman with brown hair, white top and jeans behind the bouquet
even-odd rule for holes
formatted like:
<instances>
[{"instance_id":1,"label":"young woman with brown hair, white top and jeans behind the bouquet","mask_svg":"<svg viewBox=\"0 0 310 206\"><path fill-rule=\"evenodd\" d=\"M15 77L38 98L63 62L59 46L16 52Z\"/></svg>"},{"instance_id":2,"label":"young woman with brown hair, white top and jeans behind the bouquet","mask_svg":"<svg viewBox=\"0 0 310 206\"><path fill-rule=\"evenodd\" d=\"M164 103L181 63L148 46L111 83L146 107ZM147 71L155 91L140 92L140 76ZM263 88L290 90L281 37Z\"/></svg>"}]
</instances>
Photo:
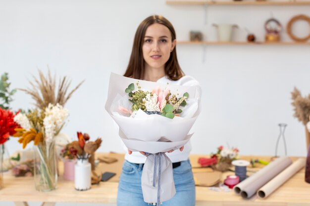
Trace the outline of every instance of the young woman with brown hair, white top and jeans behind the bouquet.
<instances>
[{"instance_id":1,"label":"young woman with brown hair, white top and jeans behind the bouquet","mask_svg":"<svg viewBox=\"0 0 310 206\"><path fill-rule=\"evenodd\" d=\"M152 82L199 86L182 72L176 55L176 35L172 24L162 16L150 16L139 25L125 77ZM200 88L200 86L199 86ZM146 134L147 135L147 134ZM162 206L195 206L195 182L189 162L190 142L177 151L167 151L173 163L175 196ZM117 206L147 206L143 200L141 175L144 152L128 150L120 176Z\"/></svg>"}]
</instances>

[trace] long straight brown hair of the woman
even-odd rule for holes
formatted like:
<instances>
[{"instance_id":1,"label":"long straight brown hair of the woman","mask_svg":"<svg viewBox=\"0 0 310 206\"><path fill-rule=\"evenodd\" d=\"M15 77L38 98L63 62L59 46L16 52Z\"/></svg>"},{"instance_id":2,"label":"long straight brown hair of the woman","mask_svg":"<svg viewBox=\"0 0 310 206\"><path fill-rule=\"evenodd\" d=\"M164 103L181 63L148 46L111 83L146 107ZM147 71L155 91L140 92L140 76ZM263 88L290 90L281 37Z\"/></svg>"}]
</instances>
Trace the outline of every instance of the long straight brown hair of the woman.
<instances>
[{"instance_id":1,"label":"long straight brown hair of the woman","mask_svg":"<svg viewBox=\"0 0 310 206\"><path fill-rule=\"evenodd\" d=\"M145 20L141 22L139 25L136 34L134 43L132 46L131 56L128 63L127 70L124 74L125 77L130 77L138 80L142 80L145 73L144 68L144 59L142 46L144 42L144 36L147 31L147 28L152 24L162 24L167 27L171 33L172 41L176 39L175 31L172 24L163 16L149 16ZM177 55L176 55L176 47L170 53L170 57L168 61L165 63L165 74L168 76L170 80L179 80L184 76L183 71L178 63Z\"/></svg>"}]
</instances>

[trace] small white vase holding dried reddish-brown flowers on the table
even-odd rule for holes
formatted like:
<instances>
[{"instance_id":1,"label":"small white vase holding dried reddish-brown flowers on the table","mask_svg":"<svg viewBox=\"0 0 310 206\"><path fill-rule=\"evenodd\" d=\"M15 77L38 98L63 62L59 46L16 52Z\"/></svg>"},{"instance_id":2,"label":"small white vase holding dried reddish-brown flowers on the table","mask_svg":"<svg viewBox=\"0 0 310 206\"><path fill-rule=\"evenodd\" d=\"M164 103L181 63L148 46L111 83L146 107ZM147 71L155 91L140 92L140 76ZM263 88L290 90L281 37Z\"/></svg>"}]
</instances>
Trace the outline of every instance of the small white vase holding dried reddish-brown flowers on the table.
<instances>
[{"instance_id":1,"label":"small white vase holding dried reddish-brown flowers on the table","mask_svg":"<svg viewBox=\"0 0 310 206\"><path fill-rule=\"evenodd\" d=\"M91 188L92 166L87 159L77 160L74 166L74 187L83 191Z\"/></svg>"}]
</instances>

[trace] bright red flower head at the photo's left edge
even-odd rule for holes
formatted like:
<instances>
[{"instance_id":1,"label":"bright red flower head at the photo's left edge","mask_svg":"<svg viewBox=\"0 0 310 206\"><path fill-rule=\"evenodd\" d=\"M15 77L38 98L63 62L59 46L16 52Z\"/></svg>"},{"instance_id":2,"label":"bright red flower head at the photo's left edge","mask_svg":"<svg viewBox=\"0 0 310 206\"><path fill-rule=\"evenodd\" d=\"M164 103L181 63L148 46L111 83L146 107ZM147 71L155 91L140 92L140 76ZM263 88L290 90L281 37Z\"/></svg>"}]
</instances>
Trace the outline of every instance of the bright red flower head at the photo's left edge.
<instances>
[{"instance_id":1,"label":"bright red flower head at the photo's left edge","mask_svg":"<svg viewBox=\"0 0 310 206\"><path fill-rule=\"evenodd\" d=\"M15 128L19 127L14 122L15 115L9 111L0 108L0 144L6 142L9 136L16 133Z\"/></svg>"}]
</instances>

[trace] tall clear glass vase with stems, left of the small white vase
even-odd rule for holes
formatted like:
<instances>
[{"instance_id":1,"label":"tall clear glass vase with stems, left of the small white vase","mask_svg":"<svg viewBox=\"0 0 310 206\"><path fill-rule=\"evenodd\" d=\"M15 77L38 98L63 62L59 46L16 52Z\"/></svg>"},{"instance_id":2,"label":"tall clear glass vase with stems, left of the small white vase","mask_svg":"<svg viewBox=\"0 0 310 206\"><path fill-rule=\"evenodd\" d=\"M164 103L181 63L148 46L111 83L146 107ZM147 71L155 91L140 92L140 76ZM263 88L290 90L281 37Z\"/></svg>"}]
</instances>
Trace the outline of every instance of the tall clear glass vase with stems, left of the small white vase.
<instances>
[{"instance_id":1,"label":"tall clear glass vase with stems, left of the small white vase","mask_svg":"<svg viewBox=\"0 0 310 206\"><path fill-rule=\"evenodd\" d=\"M57 157L54 141L35 146L34 178L36 189L47 192L57 187Z\"/></svg>"}]
</instances>

